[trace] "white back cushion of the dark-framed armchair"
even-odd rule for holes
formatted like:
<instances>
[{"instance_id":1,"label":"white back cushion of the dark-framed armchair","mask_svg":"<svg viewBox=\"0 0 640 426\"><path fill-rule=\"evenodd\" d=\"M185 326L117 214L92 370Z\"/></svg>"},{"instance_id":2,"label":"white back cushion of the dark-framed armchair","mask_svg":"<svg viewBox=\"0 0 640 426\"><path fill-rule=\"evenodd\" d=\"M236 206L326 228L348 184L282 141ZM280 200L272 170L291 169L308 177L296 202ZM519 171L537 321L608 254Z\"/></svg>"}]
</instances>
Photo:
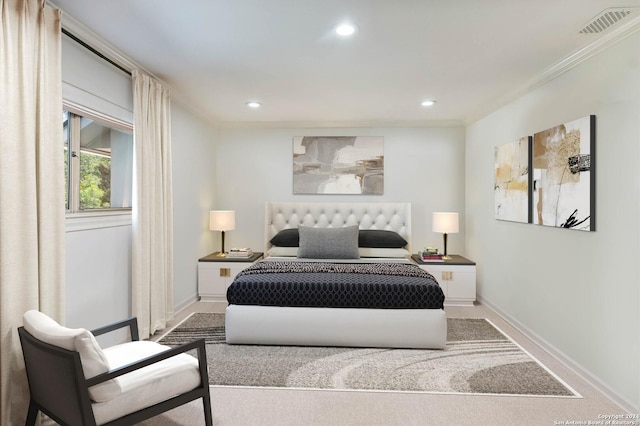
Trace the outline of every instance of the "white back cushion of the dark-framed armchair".
<instances>
[{"instance_id":1,"label":"white back cushion of the dark-framed armchair","mask_svg":"<svg viewBox=\"0 0 640 426\"><path fill-rule=\"evenodd\" d=\"M67 328L40 311L31 310L22 316L24 328L36 339L80 354L82 370L87 379L109 371L110 364L96 338L84 328ZM93 401L108 401L121 389L115 380L89 388Z\"/></svg>"}]
</instances>

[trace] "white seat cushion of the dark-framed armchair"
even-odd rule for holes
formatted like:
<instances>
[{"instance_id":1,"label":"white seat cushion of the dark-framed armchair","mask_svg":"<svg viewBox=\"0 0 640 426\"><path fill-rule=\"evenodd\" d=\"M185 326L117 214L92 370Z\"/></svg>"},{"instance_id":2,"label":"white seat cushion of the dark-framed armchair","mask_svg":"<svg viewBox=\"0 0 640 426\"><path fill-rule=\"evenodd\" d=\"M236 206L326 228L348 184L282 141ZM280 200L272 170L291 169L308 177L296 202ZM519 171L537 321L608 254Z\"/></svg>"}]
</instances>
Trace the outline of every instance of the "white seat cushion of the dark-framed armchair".
<instances>
[{"instance_id":1,"label":"white seat cushion of the dark-framed armchair","mask_svg":"<svg viewBox=\"0 0 640 426\"><path fill-rule=\"evenodd\" d=\"M111 368L166 351L168 346L150 341L128 342L103 350ZM93 403L98 424L104 424L144 407L165 401L200 385L198 360L180 354L115 379L122 393L107 402Z\"/></svg>"}]
</instances>

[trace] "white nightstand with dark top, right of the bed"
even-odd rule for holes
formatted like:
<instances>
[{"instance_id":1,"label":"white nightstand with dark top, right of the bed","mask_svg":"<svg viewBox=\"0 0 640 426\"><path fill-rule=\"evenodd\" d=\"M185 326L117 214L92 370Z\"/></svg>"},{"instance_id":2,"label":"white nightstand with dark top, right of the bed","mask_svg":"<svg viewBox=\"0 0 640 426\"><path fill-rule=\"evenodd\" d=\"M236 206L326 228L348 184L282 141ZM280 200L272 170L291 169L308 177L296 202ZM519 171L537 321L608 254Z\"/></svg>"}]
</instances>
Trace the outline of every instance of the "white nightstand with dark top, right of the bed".
<instances>
[{"instance_id":1,"label":"white nightstand with dark top, right of the bed","mask_svg":"<svg viewBox=\"0 0 640 426\"><path fill-rule=\"evenodd\" d=\"M411 259L433 275L444 292L448 306L472 306L476 300L476 263L455 254L444 262L423 261L417 254Z\"/></svg>"}]
</instances>

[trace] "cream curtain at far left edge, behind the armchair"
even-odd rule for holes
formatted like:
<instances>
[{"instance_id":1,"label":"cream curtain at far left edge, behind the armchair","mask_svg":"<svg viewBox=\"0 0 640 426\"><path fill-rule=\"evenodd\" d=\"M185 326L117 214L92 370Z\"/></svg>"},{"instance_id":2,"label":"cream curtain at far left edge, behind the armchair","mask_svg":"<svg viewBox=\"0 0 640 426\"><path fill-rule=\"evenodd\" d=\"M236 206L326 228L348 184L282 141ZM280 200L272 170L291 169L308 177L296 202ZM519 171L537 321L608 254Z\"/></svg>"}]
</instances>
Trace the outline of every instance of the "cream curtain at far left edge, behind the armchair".
<instances>
[{"instance_id":1,"label":"cream curtain at far left edge, behind the armchair","mask_svg":"<svg viewBox=\"0 0 640 426\"><path fill-rule=\"evenodd\" d=\"M17 328L39 309L64 320L60 11L0 0L0 424L24 424Z\"/></svg>"}]
</instances>

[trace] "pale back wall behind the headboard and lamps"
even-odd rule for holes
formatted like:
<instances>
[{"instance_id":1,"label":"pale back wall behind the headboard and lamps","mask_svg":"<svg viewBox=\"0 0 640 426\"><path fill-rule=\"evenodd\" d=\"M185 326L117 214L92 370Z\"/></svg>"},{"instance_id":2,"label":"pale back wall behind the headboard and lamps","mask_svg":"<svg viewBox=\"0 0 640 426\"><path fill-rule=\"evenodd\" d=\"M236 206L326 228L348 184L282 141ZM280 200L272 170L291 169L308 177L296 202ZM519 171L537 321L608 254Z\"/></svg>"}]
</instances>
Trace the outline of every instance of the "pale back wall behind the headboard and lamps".
<instances>
[{"instance_id":1,"label":"pale back wall behind the headboard and lamps","mask_svg":"<svg viewBox=\"0 0 640 426\"><path fill-rule=\"evenodd\" d=\"M293 195L293 138L314 135L383 136L384 195ZM236 210L236 230L226 233L225 247L262 250L267 201L410 202L414 249L442 248L442 235L431 232L431 212L458 211L462 226L449 236L448 251L465 252L461 127L222 128L217 158L215 208Z\"/></svg>"}]
</instances>

